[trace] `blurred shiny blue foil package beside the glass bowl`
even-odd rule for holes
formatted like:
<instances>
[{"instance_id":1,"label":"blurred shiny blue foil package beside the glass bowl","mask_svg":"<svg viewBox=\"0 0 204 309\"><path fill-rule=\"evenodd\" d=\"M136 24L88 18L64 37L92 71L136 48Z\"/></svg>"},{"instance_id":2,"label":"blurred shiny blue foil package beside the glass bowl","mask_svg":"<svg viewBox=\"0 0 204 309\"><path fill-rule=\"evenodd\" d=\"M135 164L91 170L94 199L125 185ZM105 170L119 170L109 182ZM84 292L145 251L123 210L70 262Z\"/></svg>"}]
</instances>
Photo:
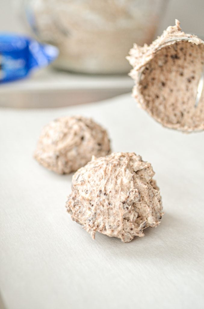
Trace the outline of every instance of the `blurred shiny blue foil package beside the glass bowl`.
<instances>
[{"instance_id":1,"label":"blurred shiny blue foil package beside the glass bowl","mask_svg":"<svg viewBox=\"0 0 204 309\"><path fill-rule=\"evenodd\" d=\"M34 68L54 61L58 53L55 46L26 36L0 34L0 83L28 76Z\"/></svg>"}]
</instances>

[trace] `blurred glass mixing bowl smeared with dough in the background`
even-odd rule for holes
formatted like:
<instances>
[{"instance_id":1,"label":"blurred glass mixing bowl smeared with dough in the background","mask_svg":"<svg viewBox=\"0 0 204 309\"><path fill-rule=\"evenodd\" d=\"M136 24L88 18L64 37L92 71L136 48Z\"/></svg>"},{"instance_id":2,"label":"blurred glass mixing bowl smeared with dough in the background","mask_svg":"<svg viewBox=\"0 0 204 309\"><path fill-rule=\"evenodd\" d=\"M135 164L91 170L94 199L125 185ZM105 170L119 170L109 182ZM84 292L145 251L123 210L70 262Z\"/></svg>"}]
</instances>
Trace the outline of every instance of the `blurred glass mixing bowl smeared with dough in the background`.
<instances>
[{"instance_id":1,"label":"blurred glass mixing bowl smeared with dough in the background","mask_svg":"<svg viewBox=\"0 0 204 309\"><path fill-rule=\"evenodd\" d=\"M59 48L58 69L127 73L133 43L149 44L167 0L24 0L38 40Z\"/></svg>"}]
</instances>

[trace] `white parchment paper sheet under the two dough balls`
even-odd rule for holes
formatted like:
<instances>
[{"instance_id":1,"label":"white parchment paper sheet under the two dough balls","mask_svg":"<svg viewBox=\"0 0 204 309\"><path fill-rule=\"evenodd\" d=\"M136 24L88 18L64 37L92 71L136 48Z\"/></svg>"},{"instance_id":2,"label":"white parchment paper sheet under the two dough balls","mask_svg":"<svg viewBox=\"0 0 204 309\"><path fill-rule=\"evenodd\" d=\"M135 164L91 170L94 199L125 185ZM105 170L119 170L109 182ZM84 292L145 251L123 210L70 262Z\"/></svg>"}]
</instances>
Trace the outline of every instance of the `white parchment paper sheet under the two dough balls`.
<instances>
[{"instance_id":1,"label":"white parchment paper sheet under the two dough balls","mask_svg":"<svg viewBox=\"0 0 204 309\"><path fill-rule=\"evenodd\" d=\"M82 114L114 151L152 163L165 215L130 243L93 241L65 210L71 176L32 158L50 120ZM0 289L7 309L202 309L204 132L165 129L130 94L55 109L1 109Z\"/></svg>"}]
</instances>

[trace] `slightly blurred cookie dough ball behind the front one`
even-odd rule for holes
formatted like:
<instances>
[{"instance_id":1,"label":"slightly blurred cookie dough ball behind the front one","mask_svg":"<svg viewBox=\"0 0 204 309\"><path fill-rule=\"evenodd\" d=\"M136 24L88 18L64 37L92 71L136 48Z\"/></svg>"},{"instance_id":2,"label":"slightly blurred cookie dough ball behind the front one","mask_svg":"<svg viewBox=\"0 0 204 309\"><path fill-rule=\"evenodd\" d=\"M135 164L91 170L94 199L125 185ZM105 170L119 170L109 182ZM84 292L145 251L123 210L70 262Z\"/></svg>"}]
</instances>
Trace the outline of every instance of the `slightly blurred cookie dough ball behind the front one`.
<instances>
[{"instance_id":1,"label":"slightly blurred cookie dough ball behind the front one","mask_svg":"<svg viewBox=\"0 0 204 309\"><path fill-rule=\"evenodd\" d=\"M40 135L35 159L59 174L76 171L96 157L110 153L108 133L92 119L62 117L46 125Z\"/></svg>"}]
</instances>

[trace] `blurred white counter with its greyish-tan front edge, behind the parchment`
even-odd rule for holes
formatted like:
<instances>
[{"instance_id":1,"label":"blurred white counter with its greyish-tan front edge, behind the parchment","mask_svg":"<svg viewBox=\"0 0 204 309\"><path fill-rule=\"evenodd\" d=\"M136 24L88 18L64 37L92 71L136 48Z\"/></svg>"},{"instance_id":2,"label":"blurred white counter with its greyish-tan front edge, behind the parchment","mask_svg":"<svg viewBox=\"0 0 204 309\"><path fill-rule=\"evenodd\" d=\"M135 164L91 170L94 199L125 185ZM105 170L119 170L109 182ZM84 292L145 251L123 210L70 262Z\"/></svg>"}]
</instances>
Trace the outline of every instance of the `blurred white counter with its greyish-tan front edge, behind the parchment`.
<instances>
[{"instance_id":1,"label":"blurred white counter with its greyish-tan front edge, behind the parchment","mask_svg":"<svg viewBox=\"0 0 204 309\"><path fill-rule=\"evenodd\" d=\"M0 84L0 107L51 108L96 102L128 93L133 80L124 75L88 75L45 68L29 78Z\"/></svg>"}]
</instances>

